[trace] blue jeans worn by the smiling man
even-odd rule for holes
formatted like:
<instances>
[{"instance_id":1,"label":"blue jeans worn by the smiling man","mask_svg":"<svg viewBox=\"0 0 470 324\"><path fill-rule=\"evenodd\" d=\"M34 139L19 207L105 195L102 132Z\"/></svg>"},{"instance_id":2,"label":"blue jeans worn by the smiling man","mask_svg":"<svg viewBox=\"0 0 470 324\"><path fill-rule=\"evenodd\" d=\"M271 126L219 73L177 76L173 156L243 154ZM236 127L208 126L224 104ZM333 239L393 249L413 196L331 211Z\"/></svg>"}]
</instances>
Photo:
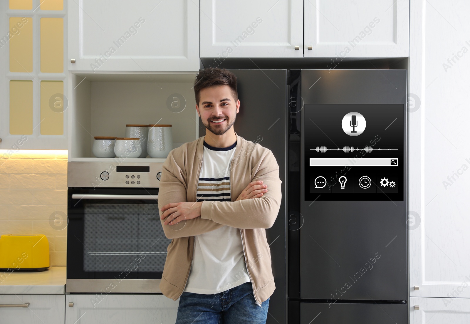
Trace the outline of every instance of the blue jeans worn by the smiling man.
<instances>
[{"instance_id":1,"label":"blue jeans worn by the smiling man","mask_svg":"<svg viewBox=\"0 0 470 324\"><path fill-rule=\"evenodd\" d=\"M176 324L266 324L269 298L255 302L251 281L216 294L183 292Z\"/></svg>"}]
</instances>

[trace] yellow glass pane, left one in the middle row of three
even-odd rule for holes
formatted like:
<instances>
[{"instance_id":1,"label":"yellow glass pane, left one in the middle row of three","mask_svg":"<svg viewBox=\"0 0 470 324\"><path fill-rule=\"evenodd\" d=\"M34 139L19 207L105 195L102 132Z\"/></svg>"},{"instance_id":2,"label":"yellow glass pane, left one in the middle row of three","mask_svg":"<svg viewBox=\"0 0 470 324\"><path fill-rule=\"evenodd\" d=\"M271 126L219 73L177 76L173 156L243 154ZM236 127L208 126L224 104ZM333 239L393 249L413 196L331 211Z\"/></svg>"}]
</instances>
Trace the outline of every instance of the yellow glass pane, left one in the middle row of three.
<instances>
[{"instance_id":1,"label":"yellow glass pane, left one in the middle row of three","mask_svg":"<svg viewBox=\"0 0 470 324\"><path fill-rule=\"evenodd\" d=\"M32 72L32 18L10 17L10 72Z\"/></svg>"}]
</instances>

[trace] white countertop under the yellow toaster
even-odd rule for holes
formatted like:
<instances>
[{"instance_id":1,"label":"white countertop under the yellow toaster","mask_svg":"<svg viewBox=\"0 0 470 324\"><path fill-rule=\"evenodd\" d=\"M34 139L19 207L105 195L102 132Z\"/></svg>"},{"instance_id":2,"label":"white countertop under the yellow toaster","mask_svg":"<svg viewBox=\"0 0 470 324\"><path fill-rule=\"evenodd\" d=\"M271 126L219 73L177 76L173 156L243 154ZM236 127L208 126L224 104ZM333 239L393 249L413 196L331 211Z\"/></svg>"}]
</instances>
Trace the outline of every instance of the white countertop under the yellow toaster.
<instances>
[{"instance_id":1,"label":"white countertop under the yellow toaster","mask_svg":"<svg viewBox=\"0 0 470 324\"><path fill-rule=\"evenodd\" d=\"M0 294L63 294L67 267L45 271L0 271Z\"/></svg>"}]
</instances>

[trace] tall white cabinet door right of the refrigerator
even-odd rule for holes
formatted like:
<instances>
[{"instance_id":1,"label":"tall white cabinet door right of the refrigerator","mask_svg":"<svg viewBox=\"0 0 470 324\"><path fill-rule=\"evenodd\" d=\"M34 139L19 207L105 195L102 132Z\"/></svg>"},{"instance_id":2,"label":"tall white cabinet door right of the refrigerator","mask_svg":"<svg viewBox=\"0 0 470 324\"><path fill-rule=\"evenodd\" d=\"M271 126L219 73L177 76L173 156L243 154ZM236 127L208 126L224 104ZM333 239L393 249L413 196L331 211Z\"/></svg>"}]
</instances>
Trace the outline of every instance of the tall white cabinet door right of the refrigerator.
<instances>
[{"instance_id":1,"label":"tall white cabinet door right of the refrigerator","mask_svg":"<svg viewBox=\"0 0 470 324\"><path fill-rule=\"evenodd\" d=\"M470 298L470 3L410 4L410 296L444 305L444 298ZM459 316L469 322L470 314Z\"/></svg>"}]
</instances>

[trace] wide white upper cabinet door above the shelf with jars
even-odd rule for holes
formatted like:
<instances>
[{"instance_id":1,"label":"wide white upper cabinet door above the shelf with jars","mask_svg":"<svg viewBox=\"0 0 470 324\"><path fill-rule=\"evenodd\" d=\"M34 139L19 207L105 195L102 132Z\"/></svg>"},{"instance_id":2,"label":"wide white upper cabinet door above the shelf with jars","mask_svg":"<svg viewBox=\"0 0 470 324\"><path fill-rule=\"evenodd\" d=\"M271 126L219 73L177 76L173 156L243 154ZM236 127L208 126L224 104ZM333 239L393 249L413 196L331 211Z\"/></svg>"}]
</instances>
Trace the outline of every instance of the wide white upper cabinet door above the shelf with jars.
<instances>
[{"instance_id":1,"label":"wide white upper cabinet door above the shelf with jars","mask_svg":"<svg viewBox=\"0 0 470 324\"><path fill-rule=\"evenodd\" d=\"M69 0L68 4L69 70L198 71L195 2Z\"/></svg>"}]
</instances>

